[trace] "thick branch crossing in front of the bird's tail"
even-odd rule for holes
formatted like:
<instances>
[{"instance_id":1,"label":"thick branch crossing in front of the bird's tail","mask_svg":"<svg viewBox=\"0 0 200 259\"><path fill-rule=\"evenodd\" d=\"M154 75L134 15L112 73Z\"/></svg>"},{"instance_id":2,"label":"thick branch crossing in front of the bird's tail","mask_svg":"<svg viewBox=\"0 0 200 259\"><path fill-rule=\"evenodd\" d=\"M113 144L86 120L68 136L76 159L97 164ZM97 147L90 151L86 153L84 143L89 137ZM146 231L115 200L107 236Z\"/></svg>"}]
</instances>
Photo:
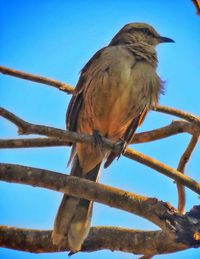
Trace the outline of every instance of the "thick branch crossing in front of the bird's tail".
<instances>
[{"instance_id":1,"label":"thick branch crossing in front of the bird's tail","mask_svg":"<svg viewBox=\"0 0 200 259\"><path fill-rule=\"evenodd\" d=\"M140 215L164 228L168 223L164 222L163 218L165 216L169 217L172 214L176 215L177 213L172 206L155 198L140 196L79 177L44 169L1 163L0 180L43 187L88 200L94 200Z\"/></svg>"}]
</instances>

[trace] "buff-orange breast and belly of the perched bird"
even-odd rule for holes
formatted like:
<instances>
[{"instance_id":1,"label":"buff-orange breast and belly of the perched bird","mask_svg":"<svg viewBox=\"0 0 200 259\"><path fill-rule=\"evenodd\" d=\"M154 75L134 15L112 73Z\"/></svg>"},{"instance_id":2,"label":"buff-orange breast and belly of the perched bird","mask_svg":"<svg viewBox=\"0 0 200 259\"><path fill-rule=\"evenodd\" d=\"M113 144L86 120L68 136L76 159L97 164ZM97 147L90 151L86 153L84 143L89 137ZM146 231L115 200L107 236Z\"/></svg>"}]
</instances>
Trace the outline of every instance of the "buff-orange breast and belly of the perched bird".
<instances>
[{"instance_id":1,"label":"buff-orange breast and belly of the perched bird","mask_svg":"<svg viewBox=\"0 0 200 259\"><path fill-rule=\"evenodd\" d=\"M84 92L80 117L85 126L81 131L95 129L117 140L150 102L149 85L155 71L149 64L137 62L126 49L107 53L92 69Z\"/></svg>"}]
</instances>

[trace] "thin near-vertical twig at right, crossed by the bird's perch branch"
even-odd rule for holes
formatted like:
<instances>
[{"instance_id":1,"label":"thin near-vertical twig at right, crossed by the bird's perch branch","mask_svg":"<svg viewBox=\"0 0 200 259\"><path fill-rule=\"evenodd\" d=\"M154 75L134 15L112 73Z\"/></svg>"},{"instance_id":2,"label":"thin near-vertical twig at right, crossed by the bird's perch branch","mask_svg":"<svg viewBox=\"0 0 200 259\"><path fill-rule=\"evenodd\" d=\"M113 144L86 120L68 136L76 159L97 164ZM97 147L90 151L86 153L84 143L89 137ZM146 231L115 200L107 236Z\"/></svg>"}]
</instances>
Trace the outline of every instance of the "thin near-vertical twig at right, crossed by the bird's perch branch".
<instances>
[{"instance_id":1,"label":"thin near-vertical twig at right, crossed by the bird's perch branch","mask_svg":"<svg viewBox=\"0 0 200 259\"><path fill-rule=\"evenodd\" d=\"M194 134L190 140L189 145L187 146L186 150L184 151L183 155L178 164L177 170L184 174L185 167L187 162L189 161L192 152L194 151L199 139L199 134ZM178 211L184 213L185 211L185 188L182 184L177 181L177 190L178 190Z\"/></svg>"}]
</instances>

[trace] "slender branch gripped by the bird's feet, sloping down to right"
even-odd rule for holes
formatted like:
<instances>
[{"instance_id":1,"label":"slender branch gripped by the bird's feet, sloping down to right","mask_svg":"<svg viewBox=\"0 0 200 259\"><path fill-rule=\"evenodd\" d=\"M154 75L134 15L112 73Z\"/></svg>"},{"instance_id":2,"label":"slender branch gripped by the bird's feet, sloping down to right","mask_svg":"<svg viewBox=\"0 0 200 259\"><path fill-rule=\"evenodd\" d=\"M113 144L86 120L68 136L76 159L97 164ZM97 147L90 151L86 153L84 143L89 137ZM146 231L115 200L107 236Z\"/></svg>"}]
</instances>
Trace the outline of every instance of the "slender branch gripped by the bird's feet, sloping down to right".
<instances>
[{"instance_id":1,"label":"slender branch gripped by the bird's feet, sloping down to right","mask_svg":"<svg viewBox=\"0 0 200 259\"><path fill-rule=\"evenodd\" d=\"M7 111L6 109L0 108L0 115L4 118L10 120L13 122L16 126L19 128L20 134L43 134L47 136L57 136L61 139L66 139L69 142L85 142L88 144L94 143L94 139L92 136L86 135L86 134L78 134L76 132L71 131L65 131L61 129L56 129L52 127L46 127L42 125L35 125L28 122L25 122L24 120L20 119L13 113ZM112 150L116 153L119 153L121 150L121 146L118 145L118 143L115 143L109 139L102 138L103 141L103 147L109 150ZM135 150L132 150L130 148L126 149L126 152L124 155L130 159L133 159L135 161L138 161L142 164L145 164L154 170L172 178L173 180L179 181L181 184L184 184L194 192L200 194L200 184L196 181L192 180L191 178L182 175L177 170L151 158L148 157L140 152L137 152Z\"/></svg>"}]
</instances>

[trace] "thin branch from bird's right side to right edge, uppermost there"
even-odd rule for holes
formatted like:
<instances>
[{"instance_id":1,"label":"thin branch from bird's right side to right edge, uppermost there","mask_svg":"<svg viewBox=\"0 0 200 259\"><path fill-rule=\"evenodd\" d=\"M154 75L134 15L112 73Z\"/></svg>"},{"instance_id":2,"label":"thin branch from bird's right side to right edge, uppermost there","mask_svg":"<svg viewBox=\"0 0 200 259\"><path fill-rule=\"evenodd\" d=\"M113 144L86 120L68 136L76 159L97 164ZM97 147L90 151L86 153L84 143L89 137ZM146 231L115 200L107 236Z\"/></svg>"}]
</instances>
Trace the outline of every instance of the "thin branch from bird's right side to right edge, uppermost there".
<instances>
[{"instance_id":1,"label":"thin branch from bird's right side to right edge, uppermost there","mask_svg":"<svg viewBox=\"0 0 200 259\"><path fill-rule=\"evenodd\" d=\"M184 111L181 111L181 110L178 110L175 108L171 108L171 107L167 107L167 106L161 106L161 105L154 107L153 110L180 117L184 120L187 120L187 121L197 125L198 129L200 130L200 118L191 113L184 112Z\"/></svg>"}]
</instances>

